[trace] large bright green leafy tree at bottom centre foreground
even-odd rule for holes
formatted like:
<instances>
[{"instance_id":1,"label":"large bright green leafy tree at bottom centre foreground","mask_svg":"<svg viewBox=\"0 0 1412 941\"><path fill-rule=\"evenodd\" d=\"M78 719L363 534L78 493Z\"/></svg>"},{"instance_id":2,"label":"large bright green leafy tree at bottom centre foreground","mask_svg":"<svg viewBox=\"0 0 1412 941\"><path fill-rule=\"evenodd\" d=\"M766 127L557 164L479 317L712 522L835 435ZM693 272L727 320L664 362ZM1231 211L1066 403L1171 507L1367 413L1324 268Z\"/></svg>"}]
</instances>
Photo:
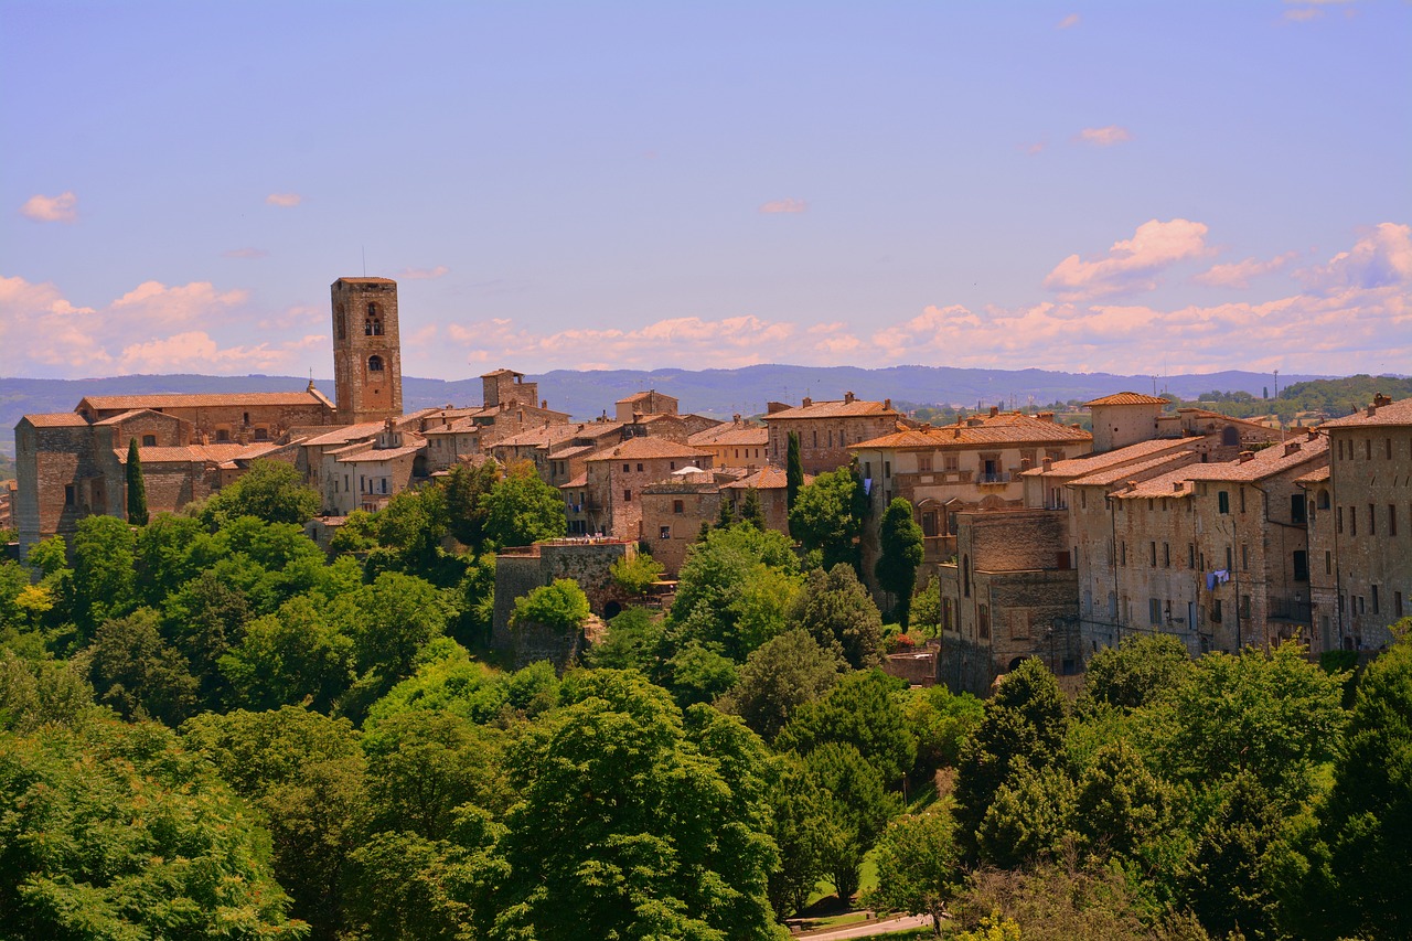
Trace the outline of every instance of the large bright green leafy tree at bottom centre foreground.
<instances>
[{"instance_id":1,"label":"large bright green leafy tree at bottom centre foreground","mask_svg":"<svg viewBox=\"0 0 1412 941\"><path fill-rule=\"evenodd\" d=\"M782 937L765 897L777 858L758 739L709 709L688 728L631 673L580 671L563 695L511 750L524 787L501 841L500 933Z\"/></svg>"}]
</instances>

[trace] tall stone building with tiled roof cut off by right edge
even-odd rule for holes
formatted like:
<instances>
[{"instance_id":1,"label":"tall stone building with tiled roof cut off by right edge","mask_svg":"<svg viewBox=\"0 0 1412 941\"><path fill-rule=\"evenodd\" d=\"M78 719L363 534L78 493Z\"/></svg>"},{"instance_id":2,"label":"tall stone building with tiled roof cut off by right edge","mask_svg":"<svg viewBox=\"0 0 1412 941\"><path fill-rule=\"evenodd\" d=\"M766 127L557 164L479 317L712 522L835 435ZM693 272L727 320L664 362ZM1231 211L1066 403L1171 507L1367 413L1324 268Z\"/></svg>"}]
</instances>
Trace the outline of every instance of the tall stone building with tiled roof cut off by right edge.
<instances>
[{"instance_id":1,"label":"tall stone building with tiled roof cut off by right edge","mask_svg":"<svg viewBox=\"0 0 1412 941\"><path fill-rule=\"evenodd\" d=\"M1320 427L1329 466L1300 479L1324 649L1377 650L1412 615L1412 398L1378 396Z\"/></svg>"}]
</instances>

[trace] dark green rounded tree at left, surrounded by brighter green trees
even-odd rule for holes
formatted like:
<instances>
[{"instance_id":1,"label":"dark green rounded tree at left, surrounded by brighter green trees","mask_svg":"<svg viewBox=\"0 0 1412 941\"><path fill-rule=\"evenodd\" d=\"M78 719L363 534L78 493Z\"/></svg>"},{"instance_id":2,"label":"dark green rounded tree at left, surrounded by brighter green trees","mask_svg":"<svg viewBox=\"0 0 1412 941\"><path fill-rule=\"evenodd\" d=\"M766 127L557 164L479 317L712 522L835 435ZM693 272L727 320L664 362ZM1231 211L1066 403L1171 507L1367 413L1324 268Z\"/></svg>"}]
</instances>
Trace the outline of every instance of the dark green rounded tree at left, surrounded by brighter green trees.
<instances>
[{"instance_id":1,"label":"dark green rounded tree at left, surrounded by brighter green trees","mask_svg":"<svg viewBox=\"0 0 1412 941\"><path fill-rule=\"evenodd\" d=\"M140 608L107 620L89 647L90 678L99 702L126 719L181 723L196 706L196 678L186 657L162 640L157 612Z\"/></svg>"}]
</instances>

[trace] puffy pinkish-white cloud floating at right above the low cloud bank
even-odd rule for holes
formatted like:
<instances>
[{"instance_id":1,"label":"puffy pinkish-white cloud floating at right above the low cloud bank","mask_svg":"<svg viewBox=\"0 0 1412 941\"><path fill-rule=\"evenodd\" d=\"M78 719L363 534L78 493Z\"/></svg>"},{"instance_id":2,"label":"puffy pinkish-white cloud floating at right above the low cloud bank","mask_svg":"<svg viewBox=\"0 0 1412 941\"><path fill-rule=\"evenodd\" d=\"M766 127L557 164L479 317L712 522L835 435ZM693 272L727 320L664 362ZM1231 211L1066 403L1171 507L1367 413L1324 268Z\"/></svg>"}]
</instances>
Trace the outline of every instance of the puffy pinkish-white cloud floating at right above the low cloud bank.
<instances>
[{"instance_id":1,"label":"puffy pinkish-white cloud floating at right above the low cloud bank","mask_svg":"<svg viewBox=\"0 0 1412 941\"><path fill-rule=\"evenodd\" d=\"M1045 287L1070 301L1151 291L1165 268L1207 253L1206 226L1200 222L1152 219L1131 239L1114 242L1101 259L1084 261L1070 254L1049 273Z\"/></svg>"}]
</instances>

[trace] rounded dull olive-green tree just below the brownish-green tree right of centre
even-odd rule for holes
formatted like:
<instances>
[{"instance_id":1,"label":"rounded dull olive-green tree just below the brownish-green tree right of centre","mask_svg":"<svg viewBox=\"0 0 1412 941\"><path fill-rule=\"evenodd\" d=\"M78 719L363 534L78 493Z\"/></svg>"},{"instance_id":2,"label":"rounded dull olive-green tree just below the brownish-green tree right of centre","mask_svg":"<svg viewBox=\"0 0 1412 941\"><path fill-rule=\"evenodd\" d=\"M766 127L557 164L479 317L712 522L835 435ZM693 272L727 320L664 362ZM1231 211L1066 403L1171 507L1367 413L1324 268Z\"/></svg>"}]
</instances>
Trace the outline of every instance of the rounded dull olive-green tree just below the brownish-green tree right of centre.
<instances>
[{"instance_id":1,"label":"rounded dull olive-green tree just below the brownish-green tree right of centre","mask_svg":"<svg viewBox=\"0 0 1412 941\"><path fill-rule=\"evenodd\" d=\"M716 705L772 742L795 709L832 690L846 667L808 632L791 630L753 650L736 685Z\"/></svg>"}]
</instances>

